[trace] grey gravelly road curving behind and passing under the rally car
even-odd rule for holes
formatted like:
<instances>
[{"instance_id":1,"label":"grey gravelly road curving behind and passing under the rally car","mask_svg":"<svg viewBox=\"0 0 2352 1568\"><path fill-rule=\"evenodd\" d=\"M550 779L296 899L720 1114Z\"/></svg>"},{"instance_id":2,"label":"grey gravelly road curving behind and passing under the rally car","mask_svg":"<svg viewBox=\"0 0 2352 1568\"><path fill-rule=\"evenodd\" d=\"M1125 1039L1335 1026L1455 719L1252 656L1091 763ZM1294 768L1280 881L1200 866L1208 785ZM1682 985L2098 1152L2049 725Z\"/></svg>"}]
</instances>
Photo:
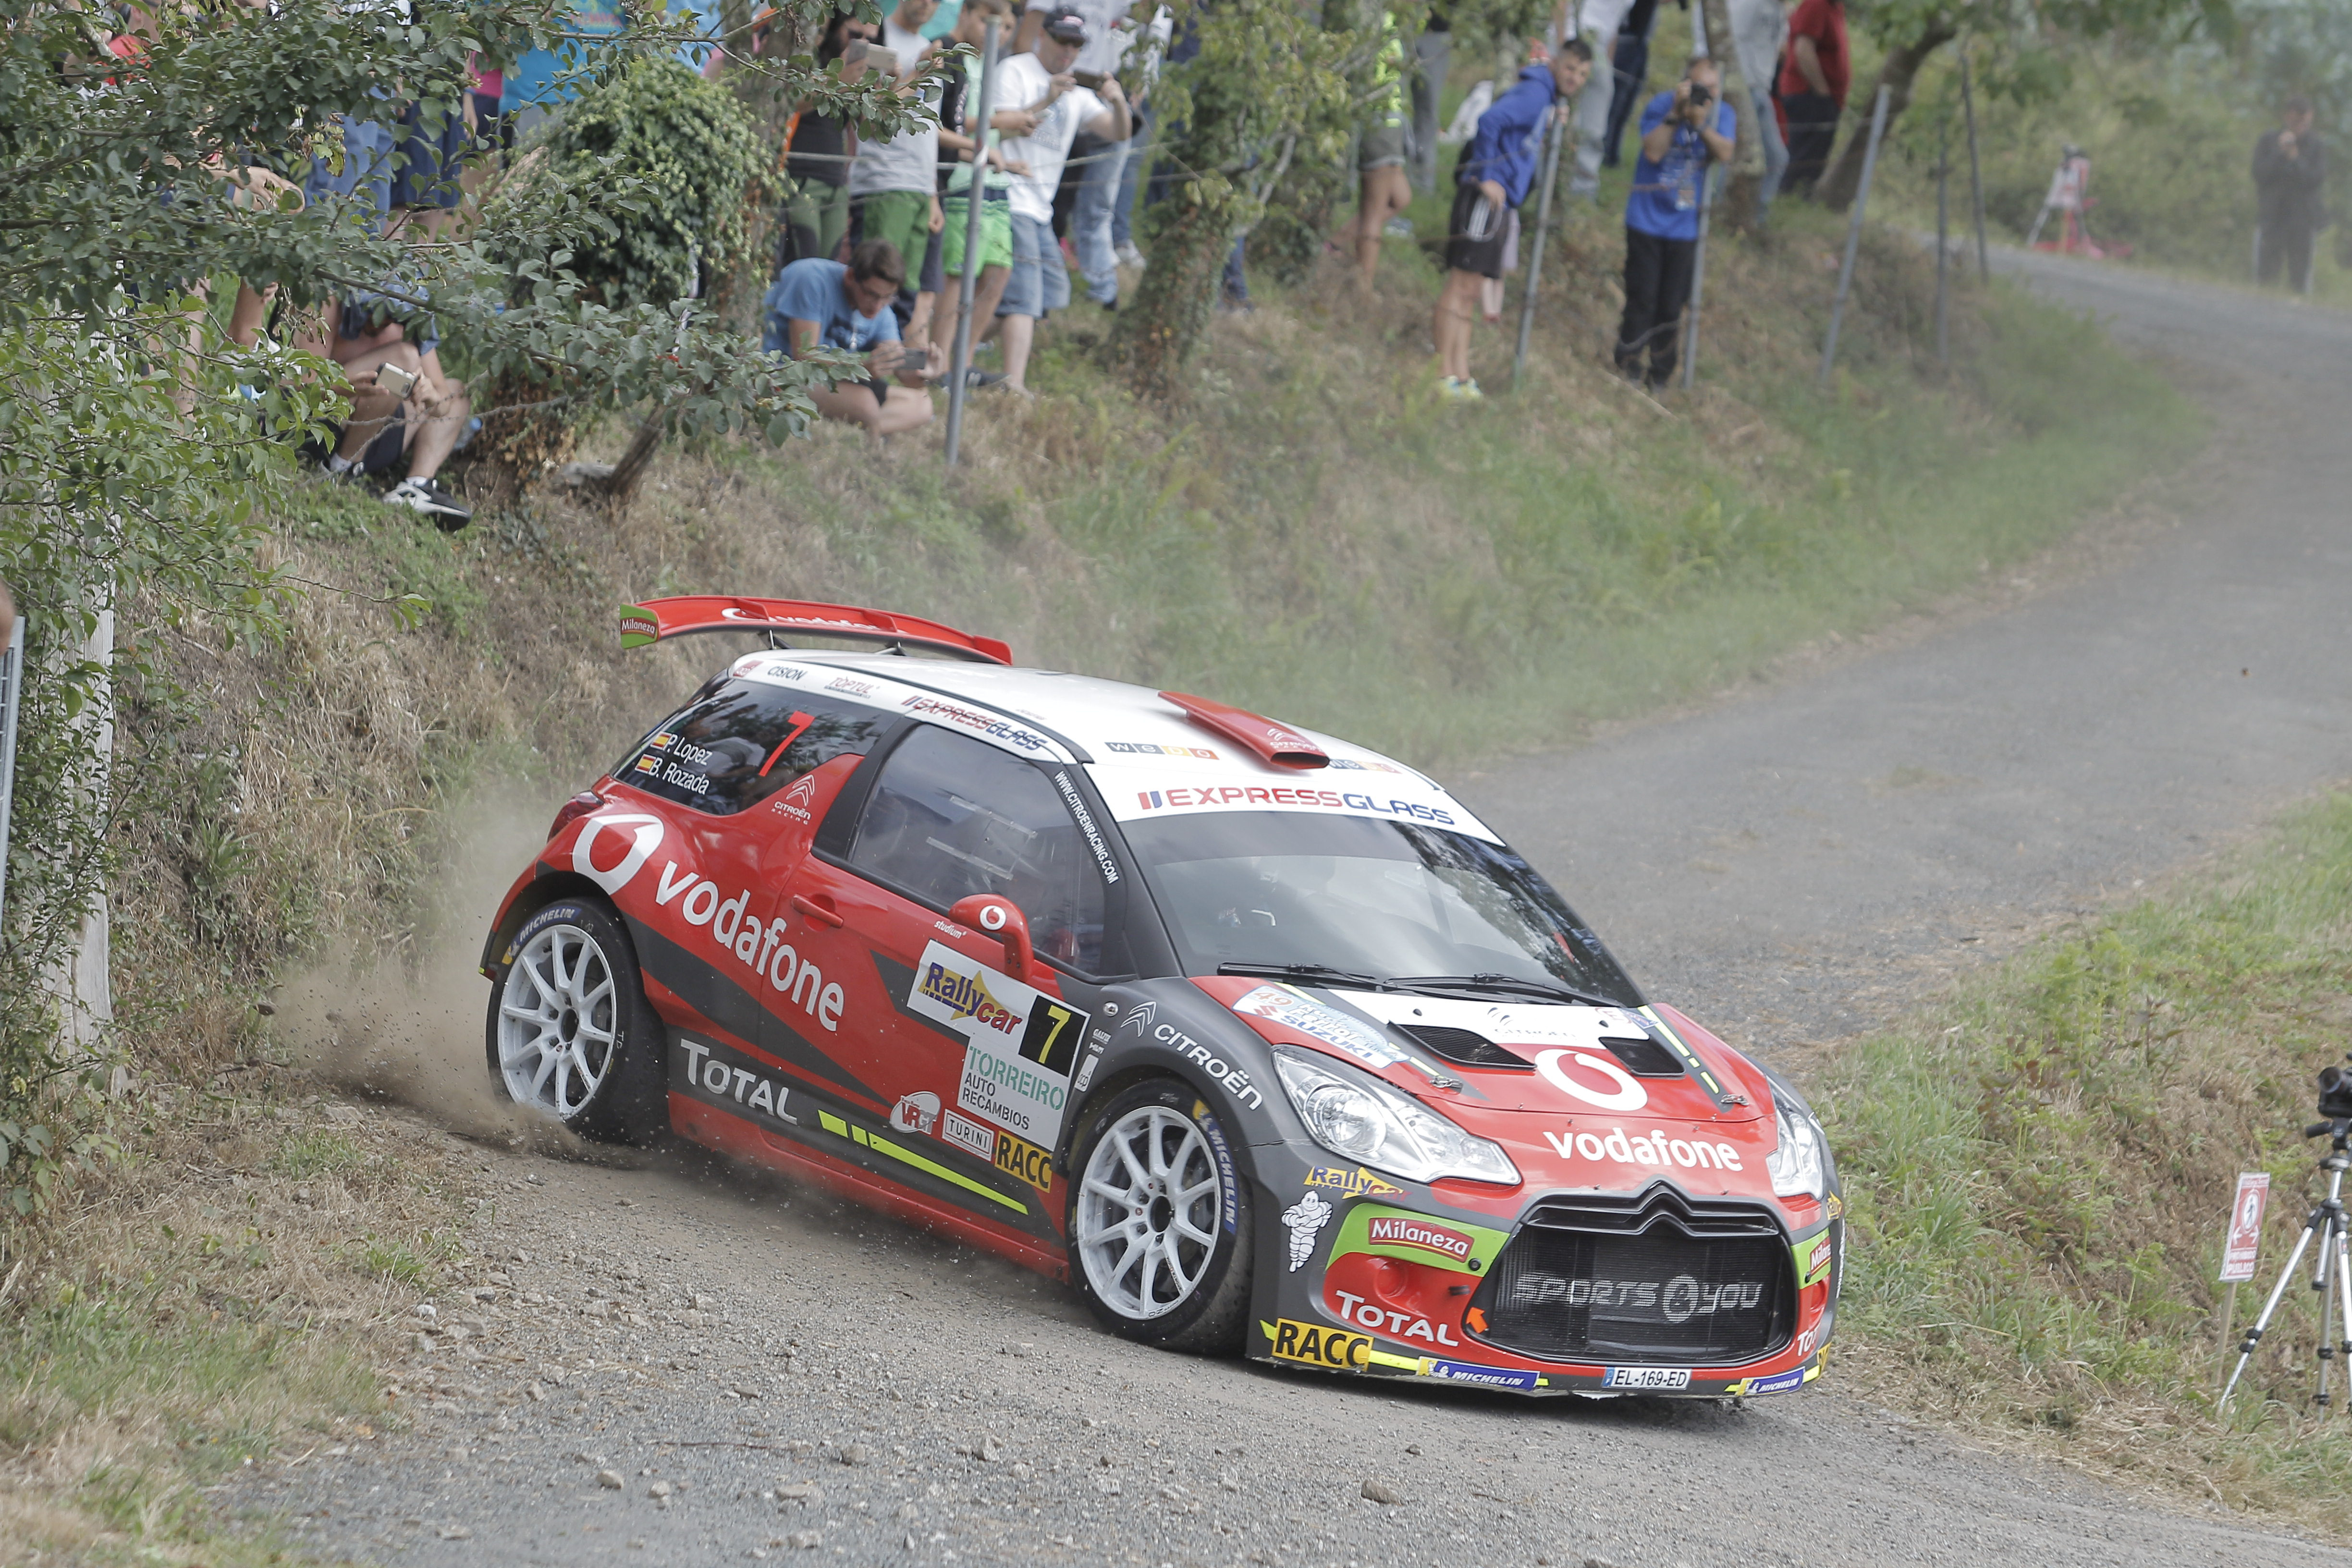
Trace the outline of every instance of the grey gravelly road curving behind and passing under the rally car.
<instances>
[{"instance_id":1,"label":"grey gravelly road curving behind and passing under the rally car","mask_svg":"<svg viewBox=\"0 0 2352 1568\"><path fill-rule=\"evenodd\" d=\"M1766 1053L2352 776L2352 327L2030 270L2211 367L2230 461L2178 529L1463 780L1653 994ZM480 1279L388 1368L414 1429L230 1505L402 1563L2352 1563L1962 1453L1835 1375L1743 1410L1275 1375L741 1171L477 1164Z\"/></svg>"}]
</instances>

